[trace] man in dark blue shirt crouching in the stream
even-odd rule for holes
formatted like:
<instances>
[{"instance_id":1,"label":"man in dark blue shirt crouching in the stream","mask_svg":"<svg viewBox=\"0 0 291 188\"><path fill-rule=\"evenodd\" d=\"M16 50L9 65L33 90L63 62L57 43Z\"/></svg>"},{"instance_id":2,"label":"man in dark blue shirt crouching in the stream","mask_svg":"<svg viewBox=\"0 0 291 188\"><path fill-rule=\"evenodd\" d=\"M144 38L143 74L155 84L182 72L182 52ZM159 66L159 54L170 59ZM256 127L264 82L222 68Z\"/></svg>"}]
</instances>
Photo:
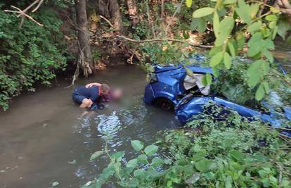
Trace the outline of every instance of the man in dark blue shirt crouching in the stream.
<instances>
[{"instance_id":1,"label":"man in dark blue shirt crouching in the stream","mask_svg":"<svg viewBox=\"0 0 291 188\"><path fill-rule=\"evenodd\" d=\"M80 108L98 108L101 97L108 95L109 92L110 87L108 84L92 83L77 87L72 92L72 99L80 105Z\"/></svg>"}]
</instances>

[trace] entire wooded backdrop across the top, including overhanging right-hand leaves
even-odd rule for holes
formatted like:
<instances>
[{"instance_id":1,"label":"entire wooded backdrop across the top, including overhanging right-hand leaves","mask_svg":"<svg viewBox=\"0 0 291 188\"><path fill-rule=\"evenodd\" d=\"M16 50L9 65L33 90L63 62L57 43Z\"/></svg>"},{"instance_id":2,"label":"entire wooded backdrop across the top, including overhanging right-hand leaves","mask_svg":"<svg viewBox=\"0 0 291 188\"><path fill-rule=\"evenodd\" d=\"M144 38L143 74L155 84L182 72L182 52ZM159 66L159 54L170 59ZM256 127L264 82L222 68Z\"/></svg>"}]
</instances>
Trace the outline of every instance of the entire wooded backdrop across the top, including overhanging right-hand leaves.
<instances>
[{"instance_id":1,"label":"entire wooded backdrop across the top, including overhanging right-hand leaves","mask_svg":"<svg viewBox=\"0 0 291 188\"><path fill-rule=\"evenodd\" d=\"M247 99L260 101L272 84L266 76L273 41L291 41L291 6L285 0L35 0L1 1L0 7L4 110L13 96L50 85L58 74L69 73L74 84L79 75L88 77L106 65L137 63L150 71L148 63L181 62L205 49L212 49L215 73L231 68L231 57L254 59L245 67L247 79L235 79L244 83ZM226 72L233 76L231 71ZM205 84L211 84L207 76Z\"/></svg>"}]
</instances>

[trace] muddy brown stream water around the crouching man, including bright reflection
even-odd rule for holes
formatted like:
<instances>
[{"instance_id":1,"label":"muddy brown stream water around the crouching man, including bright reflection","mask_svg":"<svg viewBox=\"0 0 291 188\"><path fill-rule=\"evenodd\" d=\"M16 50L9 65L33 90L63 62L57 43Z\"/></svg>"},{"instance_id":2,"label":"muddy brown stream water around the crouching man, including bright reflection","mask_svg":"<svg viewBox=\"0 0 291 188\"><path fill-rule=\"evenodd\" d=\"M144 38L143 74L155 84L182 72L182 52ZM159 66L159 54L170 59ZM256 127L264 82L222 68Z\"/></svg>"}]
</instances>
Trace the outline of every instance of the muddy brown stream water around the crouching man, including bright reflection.
<instances>
[{"instance_id":1,"label":"muddy brown stream water around the crouching man, including bright reflection","mask_svg":"<svg viewBox=\"0 0 291 188\"><path fill-rule=\"evenodd\" d=\"M59 81L60 82L60 81ZM106 104L102 111L86 112L71 99L67 83L40 89L12 102L0 113L0 187L80 187L108 164L105 156L90 162L105 147L135 155L130 140L150 143L159 130L179 125L174 113L143 104L145 73L134 66L117 66L77 85L105 82L124 87L122 104ZM70 164L68 161L77 161Z\"/></svg>"}]
</instances>

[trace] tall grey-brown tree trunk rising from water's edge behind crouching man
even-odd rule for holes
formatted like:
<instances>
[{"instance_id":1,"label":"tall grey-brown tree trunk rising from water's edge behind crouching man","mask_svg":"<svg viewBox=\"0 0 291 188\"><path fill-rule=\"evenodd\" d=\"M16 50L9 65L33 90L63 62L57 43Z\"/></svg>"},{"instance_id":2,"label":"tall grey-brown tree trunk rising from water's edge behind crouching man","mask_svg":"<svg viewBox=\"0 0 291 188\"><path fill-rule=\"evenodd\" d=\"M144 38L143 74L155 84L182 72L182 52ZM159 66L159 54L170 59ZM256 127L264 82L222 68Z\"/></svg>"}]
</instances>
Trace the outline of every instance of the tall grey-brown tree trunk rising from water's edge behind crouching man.
<instances>
[{"instance_id":1,"label":"tall grey-brown tree trunk rising from water's edge behind crouching man","mask_svg":"<svg viewBox=\"0 0 291 188\"><path fill-rule=\"evenodd\" d=\"M92 58L86 13L86 0L75 0L75 6L79 41L79 65L83 70L84 76L88 76L92 73Z\"/></svg>"}]
</instances>

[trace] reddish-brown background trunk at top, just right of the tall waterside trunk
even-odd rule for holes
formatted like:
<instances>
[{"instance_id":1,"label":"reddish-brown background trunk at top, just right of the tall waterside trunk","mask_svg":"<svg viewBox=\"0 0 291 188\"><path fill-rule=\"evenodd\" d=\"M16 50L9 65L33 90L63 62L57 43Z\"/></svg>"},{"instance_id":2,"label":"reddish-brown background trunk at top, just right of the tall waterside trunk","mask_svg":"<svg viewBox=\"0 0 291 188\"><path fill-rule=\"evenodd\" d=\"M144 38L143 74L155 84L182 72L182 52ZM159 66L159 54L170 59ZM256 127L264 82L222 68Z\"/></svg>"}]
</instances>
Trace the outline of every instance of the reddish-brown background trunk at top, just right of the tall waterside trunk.
<instances>
[{"instance_id":1,"label":"reddish-brown background trunk at top, just right of the tall waterside trunk","mask_svg":"<svg viewBox=\"0 0 291 188\"><path fill-rule=\"evenodd\" d=\"M124 27L122 23L122 15L119 10L119 5L117 0L108 0L109 1L109 13L112 18L112 24L115 27L117 32L124 33Z\"/></svg>"}]
</instances>

